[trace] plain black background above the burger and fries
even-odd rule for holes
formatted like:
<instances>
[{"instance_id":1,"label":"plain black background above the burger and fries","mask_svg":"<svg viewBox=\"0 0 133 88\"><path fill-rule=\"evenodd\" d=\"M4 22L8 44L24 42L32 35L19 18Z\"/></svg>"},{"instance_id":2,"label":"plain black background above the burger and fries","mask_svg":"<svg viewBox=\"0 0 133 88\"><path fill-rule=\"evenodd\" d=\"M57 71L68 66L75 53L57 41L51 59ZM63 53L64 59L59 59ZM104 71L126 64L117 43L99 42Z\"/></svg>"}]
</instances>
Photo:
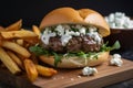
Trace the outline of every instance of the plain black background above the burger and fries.
<instances>
[{"instance_id":1,"label":"plain black background above the burger and fries","mask_svg":"<svg viewBox=\"0 0 133 88\"><path fill-rule=\"evenodd\" d=\"M1 0L0 25L7 26L19 19L23 26L39 25L44 14L60 7L90 8L103 15L125 12L133 16L133 0Z\"/></svg>"}]
</instances>

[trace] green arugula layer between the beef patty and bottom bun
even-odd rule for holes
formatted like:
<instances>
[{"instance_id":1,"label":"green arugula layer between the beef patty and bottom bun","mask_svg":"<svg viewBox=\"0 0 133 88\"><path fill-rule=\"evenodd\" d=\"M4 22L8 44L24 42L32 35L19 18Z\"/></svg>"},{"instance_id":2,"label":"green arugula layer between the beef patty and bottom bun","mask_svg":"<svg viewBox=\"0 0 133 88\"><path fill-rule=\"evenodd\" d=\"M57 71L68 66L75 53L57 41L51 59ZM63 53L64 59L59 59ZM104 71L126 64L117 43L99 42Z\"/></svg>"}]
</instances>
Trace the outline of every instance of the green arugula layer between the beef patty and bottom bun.
<instances>
[{"instance_id":1,"label":"green arugula layer between the beef patty and bottom bun","mask_svg":"<svg viewBox=\"0 0 133 88\"><path fill-rule=\"evenodd\" d=\"M70 56L79 56L84 59L86 59L86 58L93 58L93 59L96 58L98 59L98 56L101 52L109 52L109 51L113 51L113 50L119 50L121 47L119 41L116 41L112 46L108 46L108 44L109 44L109 42L103 44L101 47L101 51L99 53L96 53L96 52L84 53L81 51L78 53L57 54L55 52L49 52L39 45L31 46L29 50L30 50L30 52L34 53L37 56L53 55L54 56L54 66L58 66L58 64L61 63L62 57L69 58Z\"/></svg>"}]
</instances>

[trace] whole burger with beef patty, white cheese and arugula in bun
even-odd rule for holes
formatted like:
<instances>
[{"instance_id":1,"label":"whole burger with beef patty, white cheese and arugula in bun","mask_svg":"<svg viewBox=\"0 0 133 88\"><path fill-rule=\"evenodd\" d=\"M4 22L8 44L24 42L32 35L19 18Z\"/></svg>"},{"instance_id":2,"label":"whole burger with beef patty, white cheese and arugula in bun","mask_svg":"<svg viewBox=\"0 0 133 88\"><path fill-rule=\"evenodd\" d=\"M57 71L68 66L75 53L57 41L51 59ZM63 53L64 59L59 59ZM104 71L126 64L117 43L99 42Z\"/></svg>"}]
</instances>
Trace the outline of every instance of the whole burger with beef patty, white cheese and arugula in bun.
<instances>
[{"instance_id":1,"label":"whole burger with beef patty, white cheese and arugula in bun","mask_svg":"<svg viewBox=\"0 0 133 88\"><path fill-rule=\"evenodd\" d=\"M30 51L42 62L59 68L96 66L108 61L116 42L106 46L110 35L104 18L91 9L59 8L49 12L40 23L40 43Z\"/></svg>"}]
</instances>

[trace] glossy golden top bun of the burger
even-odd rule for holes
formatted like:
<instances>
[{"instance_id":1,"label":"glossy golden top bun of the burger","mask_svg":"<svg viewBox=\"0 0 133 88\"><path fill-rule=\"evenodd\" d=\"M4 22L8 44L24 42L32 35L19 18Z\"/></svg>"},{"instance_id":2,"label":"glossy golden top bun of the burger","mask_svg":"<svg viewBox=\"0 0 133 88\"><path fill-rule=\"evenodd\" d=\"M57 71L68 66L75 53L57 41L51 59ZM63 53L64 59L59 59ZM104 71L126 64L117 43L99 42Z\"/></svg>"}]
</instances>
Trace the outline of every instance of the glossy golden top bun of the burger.
<instances>
[{"instance_id":1,"label":"glossy golden top bun of the burger","mask_svg":"<svg viewBox=\"0 0 133 88\"><path fill-rule=\"evenodd\" d=\"M40 29L57 24L84 24L94 25L102 36L110 34L110 28L104 18L91 9L74 10L72 8L59 8L48 13L40 23Z\"/></svg>"}]
</instances>

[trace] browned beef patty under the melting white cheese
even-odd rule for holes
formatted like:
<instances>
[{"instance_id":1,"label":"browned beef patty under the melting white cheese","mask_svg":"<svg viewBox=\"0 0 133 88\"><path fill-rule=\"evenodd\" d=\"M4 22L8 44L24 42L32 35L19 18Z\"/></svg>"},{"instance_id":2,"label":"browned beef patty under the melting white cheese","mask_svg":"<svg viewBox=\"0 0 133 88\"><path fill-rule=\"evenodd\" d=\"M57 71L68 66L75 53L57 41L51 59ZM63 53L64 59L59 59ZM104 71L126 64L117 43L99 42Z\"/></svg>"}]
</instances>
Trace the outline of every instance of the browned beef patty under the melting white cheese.
<instances>
[{"instance_id":1,"label":"browned beef patty under the melting white cheese","mask_svg":"<svg viewBox=\"0 0 133 88\"><path fill-rule=\"evenodd\" d=\"M96 42L94 42L92 37L90 37L89 35L84 35L84 36L73 36L65 46L62 45L59 36L50 37L49 45L43 44L42 46L45 50L58 53L80 52L80 51L88 53L88 52L99 52L102 44L103 44L103 40L101 41L101 43L98 44Z\"/></svg>"}]
</instances>

